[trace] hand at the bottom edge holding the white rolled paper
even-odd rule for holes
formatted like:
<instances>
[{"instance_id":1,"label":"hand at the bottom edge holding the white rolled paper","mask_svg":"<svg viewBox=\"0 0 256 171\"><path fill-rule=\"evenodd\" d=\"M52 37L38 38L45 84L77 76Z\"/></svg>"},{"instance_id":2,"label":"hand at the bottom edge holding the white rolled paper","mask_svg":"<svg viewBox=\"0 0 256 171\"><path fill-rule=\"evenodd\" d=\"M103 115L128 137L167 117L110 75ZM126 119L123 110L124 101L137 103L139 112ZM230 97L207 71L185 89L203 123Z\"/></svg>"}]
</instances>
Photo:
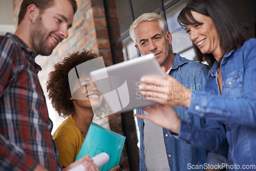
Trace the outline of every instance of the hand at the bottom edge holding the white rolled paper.
<instances>
[{"instance_id":1,"label":"hand at the bottom edge holding the white rolled paper","mask_svg":"<svg viewBox=\"0 0 256 171\"><path fill-rule=\"evenodd\" d=\"M70 170L78 166L79 164L82 164L85 167L84 170L99 171L99 168L96 166L96 164L93 163L93 159L89 155L86 155L80 158L79 160L77 160L76 162L71 163L68 167L64 168L63 170Z\"/></svg>"}]
</instances>

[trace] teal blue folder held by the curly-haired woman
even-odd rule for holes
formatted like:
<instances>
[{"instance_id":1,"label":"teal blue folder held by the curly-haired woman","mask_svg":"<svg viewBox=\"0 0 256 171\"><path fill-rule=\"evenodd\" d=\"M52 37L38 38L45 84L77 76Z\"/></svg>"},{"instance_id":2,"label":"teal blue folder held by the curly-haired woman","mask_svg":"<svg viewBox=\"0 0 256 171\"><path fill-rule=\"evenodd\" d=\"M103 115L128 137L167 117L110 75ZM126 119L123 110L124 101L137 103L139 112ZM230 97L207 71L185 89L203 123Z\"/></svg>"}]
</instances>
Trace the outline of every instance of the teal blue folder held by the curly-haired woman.
<instances>
[{"instance_id":1,"label":"teal blue folder held by the curly-haired woman","mask_svg":"<svg viewBox=\"0 0 256 171\"><path fill-rule=\"evenodd\" d=\"M99 169L101 171L110 170L119 165L124 141L124 136L92 122L76 160L86 155L94 157L105 152L110 156L110 161Z\"/></svg>"}]
</instances>

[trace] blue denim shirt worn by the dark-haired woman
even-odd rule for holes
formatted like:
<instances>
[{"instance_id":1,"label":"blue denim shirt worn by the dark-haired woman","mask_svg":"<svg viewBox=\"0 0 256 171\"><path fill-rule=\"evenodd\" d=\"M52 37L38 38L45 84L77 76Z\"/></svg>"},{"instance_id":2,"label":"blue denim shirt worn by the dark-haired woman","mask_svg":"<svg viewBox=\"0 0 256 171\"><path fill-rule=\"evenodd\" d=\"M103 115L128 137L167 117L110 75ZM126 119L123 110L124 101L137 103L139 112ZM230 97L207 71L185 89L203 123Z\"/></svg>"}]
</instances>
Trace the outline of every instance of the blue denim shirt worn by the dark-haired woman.
<instances>
[{"instance_id":1,"label":"blue denim shirt worn by the dark-haired woman","mask_svg":"<svg viewBox=\"0 0 256 171\"><path fill-rule=\"evenodd\" d=\"M237 165L230 170L246 170L243 165L256 165L256 39L249 39L238 50L224 55L221 93L217 66L215 62L209 71L207 93L193 91L195 98L187 112L225 124L228 164ZM196 135L200 136L200 132Z\"/></svg>"}]
</instances>

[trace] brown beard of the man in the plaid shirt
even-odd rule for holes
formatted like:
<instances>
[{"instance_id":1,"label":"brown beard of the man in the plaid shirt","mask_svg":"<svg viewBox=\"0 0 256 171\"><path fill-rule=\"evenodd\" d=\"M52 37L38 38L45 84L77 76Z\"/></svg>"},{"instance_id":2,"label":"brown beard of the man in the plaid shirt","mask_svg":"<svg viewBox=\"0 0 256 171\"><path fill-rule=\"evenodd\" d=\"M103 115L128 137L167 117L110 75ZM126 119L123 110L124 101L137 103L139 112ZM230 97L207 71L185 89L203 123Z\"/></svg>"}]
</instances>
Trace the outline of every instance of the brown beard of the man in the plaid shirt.
<instances>
[{"instance_id":1,"label":"brown beard of the man in the plaid shirt","mask_svg":"<svg viewBox=\"0 0 256 171\"><path fill-rule=\"evenodd\" d=\"M32 46L32 51L36 55L49 56L52 54L54 48L47 46L47 29L42 23L41 16L37 17L35 23L30 29L30 43Z\"/></svg>"}]
</instances>

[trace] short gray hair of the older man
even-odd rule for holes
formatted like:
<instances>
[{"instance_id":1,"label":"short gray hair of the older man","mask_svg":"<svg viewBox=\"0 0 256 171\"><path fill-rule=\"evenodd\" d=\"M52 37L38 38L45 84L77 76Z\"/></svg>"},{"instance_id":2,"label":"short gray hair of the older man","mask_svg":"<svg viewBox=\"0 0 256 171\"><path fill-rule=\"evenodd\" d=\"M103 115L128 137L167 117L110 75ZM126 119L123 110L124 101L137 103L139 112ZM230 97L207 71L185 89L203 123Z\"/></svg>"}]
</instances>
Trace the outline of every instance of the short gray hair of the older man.
<instances>
[{"instance_id":1,"label":"short gray hair of the older man","mask_svg":"<svg viewBox=\"0 0 256 171\"><path fill-rule=\"evenodd\" d=\"M130 36L133 39L133 41L136 42L136 35L135 35L135 28L141 23L141 22L147 22L147 21L156 21L159 23L160 29L164 32L164 35L166 35L166 32L168 31L168 25L166 20L161 16L156 13L144 13L140 15L130 26Z\"/></svg>"}]
</instances>

